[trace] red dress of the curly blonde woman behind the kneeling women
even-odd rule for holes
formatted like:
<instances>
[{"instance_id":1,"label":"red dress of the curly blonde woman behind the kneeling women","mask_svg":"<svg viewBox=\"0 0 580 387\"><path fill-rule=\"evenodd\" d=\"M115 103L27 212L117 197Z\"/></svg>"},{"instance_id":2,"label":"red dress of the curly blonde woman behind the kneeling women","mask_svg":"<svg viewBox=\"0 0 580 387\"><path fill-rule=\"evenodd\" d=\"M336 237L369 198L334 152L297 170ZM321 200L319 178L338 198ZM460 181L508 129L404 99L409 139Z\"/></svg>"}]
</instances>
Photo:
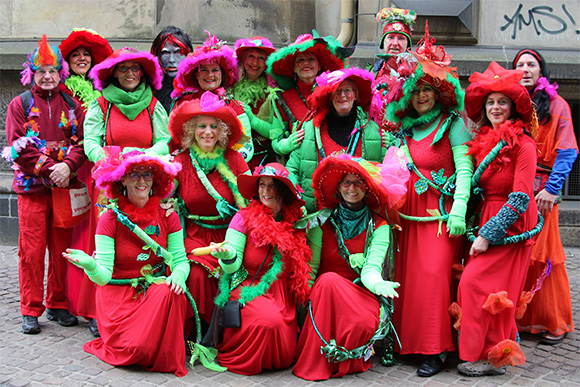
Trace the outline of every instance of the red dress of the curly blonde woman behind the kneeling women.
<instances>
[{"instance_id":1,"label":"red dress of the curly blonde woman behind the kneeling women","mask_svg":"<svg viewBox=\"0 0 580 387\"><path fill-rule=\"evenodd\" d=\"M197 172L191 163L189 152L189 150L183 151L175 157L175 161L180 162L183 166L176 177L179 183L178 193L185 202L190 214L202 216L219 215L216 201L199 180ZM227 149L224 153L224 159L233 176L238 176L248 170L248 165L243 156L236 151ZM230 205L236 206L234 194L217 170L207 174L207 178ZM222 228L203 227L193 221L185 221L185 251L188 258L194 263L191 265L187 286L197 303L200 317L206 322L211 321L213 314L213 299L217 294L217 278L213 274L216 273L219 264L217 258L211 255L194 257L191 254L191 250L197 247L209 246L210 242L218 243L223 241L230 220L204 222L210 223L212 226L221 226Z\"/></svg>"}]
</instances>

